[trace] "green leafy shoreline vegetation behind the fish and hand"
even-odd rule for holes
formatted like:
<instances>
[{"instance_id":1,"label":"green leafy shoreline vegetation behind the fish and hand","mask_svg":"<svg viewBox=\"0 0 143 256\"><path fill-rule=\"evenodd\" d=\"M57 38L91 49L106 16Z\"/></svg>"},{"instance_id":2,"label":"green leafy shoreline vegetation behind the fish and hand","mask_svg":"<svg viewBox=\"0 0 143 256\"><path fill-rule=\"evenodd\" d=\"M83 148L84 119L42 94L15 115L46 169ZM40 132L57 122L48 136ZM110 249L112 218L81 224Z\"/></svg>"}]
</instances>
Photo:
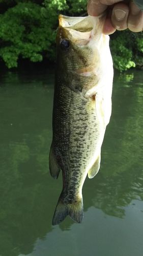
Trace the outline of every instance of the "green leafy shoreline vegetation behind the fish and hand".
<instances>
[{"instance_id":1,"label":"green leafy shoreline vegetation behind the fish and hand","mask_svg":"<svg viewBox=\"0 0 143 256\"><path fill-rule=\"evenodd\" d=\"M84 16L86 6L87 0L0 0L0 66L17 68L24 59L50 66L55 62L58 15ZM120 72L143 69L142 32L113 33L110 50Z\"/></svg>"}]
</instances>

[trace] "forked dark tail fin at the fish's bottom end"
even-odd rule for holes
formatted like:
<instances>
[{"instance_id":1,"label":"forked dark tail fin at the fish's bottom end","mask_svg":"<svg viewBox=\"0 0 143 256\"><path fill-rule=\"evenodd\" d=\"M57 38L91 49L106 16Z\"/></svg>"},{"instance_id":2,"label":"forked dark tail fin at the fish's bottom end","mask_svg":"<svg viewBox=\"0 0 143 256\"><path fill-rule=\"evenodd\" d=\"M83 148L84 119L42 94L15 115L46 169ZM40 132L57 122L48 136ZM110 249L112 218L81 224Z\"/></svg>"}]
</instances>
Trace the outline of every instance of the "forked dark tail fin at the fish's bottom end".
<instances>
[{"instance_id":1,"label":"forked dark tail fin at the fish's bottom end","mask_svg":"<svg viewBox=\"0 0 143 256\"><path fill-rule=\"evenodd\" d=\"M73 203L64 204L61 198L56 205L55 212L52 219L52 225L59 224L66 216L78 223L82 222L83 219L83 202L82 198Z\"/></svg>"}]
</instances>

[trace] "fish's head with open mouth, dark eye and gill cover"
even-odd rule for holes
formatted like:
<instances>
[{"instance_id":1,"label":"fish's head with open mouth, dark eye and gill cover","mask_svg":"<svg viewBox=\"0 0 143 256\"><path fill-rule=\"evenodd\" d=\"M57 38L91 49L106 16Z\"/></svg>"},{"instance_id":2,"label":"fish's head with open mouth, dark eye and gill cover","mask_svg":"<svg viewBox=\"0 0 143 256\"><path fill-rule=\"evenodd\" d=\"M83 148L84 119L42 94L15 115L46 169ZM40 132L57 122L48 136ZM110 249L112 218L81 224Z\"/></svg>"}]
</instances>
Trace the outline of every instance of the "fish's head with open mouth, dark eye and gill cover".
<instances>
[{"instance_id":1,"label":"fish's head with open mouth, dark eye and gill cover","mask_svg":"<svg viewBox=\"0 0 143 256\"><path fill-rule=\"evenodd\" d=\"M84 96L95 93L105 73L103 66L109 37L102 34L104 20L105 16L59 16L58 78Z\"/></svg>"}]
</instances>

